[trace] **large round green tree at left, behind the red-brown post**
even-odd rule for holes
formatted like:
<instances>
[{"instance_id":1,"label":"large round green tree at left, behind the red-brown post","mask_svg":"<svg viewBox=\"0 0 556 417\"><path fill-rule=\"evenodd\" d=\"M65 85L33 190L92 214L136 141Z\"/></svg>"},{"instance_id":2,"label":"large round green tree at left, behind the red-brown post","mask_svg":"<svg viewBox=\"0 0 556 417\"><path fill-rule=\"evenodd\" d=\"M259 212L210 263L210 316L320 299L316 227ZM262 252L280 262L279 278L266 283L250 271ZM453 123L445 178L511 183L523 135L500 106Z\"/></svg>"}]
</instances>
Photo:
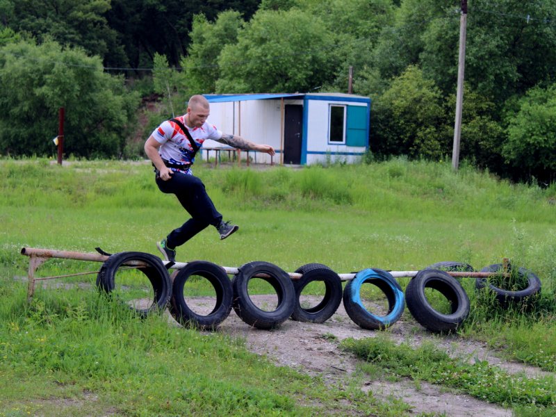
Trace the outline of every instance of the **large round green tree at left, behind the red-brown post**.
<instances>
[{"instance_id":1,"label":"large round green tree at left, behind the red-brown post","mask_svg":"<svg viewBox=\"0 0 556 417\"><path fill-rule=\"evenodd\" d=\"M102 70L98 57L46 40L0 48L0 153L55 152L58 108L65 111L67 154L120 156L138 97L120 76Z\"/></svg>"}]
</instances>

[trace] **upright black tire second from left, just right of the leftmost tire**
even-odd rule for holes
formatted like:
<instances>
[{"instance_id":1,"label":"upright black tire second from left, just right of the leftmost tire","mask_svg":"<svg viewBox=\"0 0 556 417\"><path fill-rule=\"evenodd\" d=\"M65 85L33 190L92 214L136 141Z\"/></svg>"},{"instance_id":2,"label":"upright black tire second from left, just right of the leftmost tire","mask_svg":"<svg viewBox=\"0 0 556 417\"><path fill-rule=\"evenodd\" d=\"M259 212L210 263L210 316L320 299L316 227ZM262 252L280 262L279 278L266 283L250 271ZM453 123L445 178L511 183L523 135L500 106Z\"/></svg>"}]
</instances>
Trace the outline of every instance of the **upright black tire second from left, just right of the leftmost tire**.
<instances>
[{"instance_id":1,"label":"upright black tire second from left, just right of the leftmost tire","mask_svg":"<svg viewBox=\"0 0 556 417\"><path fill-rule=\"evenodd\" d=\"M206 278L212 284L216 293L215 306L206 316L195 313L190 309L183 295L186 281L193 275ZM233 297L234 291L231 288L231 281L224 268L206 261L189 262L174 275L172 297L170 297L170 313L183 326L212 330L229 316Z\"/></svg>"}]
</instances>

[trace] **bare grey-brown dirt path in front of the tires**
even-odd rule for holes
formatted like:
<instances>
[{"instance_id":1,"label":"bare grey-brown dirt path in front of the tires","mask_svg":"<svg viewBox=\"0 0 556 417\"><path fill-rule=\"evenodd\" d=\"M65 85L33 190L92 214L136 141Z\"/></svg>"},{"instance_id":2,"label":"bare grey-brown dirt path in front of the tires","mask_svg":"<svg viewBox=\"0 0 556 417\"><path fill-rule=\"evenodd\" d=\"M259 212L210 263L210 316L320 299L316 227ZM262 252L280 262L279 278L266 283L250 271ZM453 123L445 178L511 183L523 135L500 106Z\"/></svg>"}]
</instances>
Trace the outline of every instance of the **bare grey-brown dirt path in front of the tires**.
<instances>
[{"instance_id":1,"label":"bare grey-brown dirt path in front of the tires","mask_svg":"<svg viewBox=\"0 0 556 417\"><path fill-rule=\"evenodd\" d=\"M275 296L270 295L254 295L252 300L261 305L261 303L275 302L274 298ZM202 312L203 305L213 303L210 299L202 297L196 298L195 301L188 299L187 302L199 314L206 314ZM470 361L486 360L509 373L525 373L528 376L546 374L538 368L504 361L484 343L458 336L430 334L406 316L404 315L388 330L393 340L398 343L406 342L416 346L423 341L433 341L435 345L453 356L469 357ZM469 395L455 393L442 386L425 382L420 382L417 386L410 379L402 379L398 382L366 379L363 374L357 373L357 364L360 360L343 352L338 345L345 338L375 337L377 332L355 325L347 316L342 304L334 316L323 324L287 320L279 328L271 331L247 325L232 310L230 316L220 325L218 332L244 338L250 351L268 357L279 366L288 366L302 373L319 376L327 384L347 384L356 378L355 380L361 384L361 390L372 391L377 398L387 400L394 397L403 400L411 406L411 414L512 416L512 411L508 409L482 402Z\"/></svg>"}]
</instances>

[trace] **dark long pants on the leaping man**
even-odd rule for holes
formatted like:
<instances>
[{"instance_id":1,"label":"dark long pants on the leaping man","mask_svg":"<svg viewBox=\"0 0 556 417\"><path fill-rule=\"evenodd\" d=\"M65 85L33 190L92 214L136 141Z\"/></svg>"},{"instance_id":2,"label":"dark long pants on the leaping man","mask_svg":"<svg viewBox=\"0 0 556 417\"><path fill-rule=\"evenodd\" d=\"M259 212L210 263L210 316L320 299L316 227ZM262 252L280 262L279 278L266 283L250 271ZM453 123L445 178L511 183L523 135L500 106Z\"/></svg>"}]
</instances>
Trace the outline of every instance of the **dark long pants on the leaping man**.
<instances>
[{"instance_id":1,"label":"dark long pants on the leaping man","mask_svg":"<svg viewBox=\"0 0 556 417\"><path fill-rule=\"evenodd\" d=\"M191 215L189 220L167 236L168 247L183 245L208 224L217 227L222 221L222 215L216 210L211 197L208 197L204 183L197 177L174 172L168 181L156 178L156 185L163 193L175 194L183 208Z\"/></svg>"}]
</instances>

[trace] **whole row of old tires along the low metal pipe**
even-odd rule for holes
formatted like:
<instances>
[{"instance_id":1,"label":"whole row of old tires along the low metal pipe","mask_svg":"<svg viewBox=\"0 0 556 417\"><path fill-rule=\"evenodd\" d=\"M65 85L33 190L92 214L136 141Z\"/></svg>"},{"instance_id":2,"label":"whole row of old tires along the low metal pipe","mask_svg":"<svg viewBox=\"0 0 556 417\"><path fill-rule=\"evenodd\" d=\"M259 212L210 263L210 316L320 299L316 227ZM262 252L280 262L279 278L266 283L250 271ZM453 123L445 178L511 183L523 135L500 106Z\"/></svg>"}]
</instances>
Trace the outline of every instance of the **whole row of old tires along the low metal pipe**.
<instances>
[{"instance_id":1,"label":"whole row of old tires along the low metal pipe","mask_svg":"<svg viewBox=\"0 0 556 417\"><path fill-rule=\"evenodd\" d=\"M169 307L172 316L181 325L198 329L214 329L225 320L231 309L249 325L259 329L272 329L288 318L304 322L325 322L343 302L347 315L364 329L385 329L393 325L407 307L412 316L432 332L449 332L457 329L470 309L469 299L459 281L446 270L473 271L471 265L441 262L420 270L409 281L405 293L398 281L387 271L377 268L358 272L353 279L342 286L340 277L332 269L320 263L309 263L295 270L300 279L291 279L287 272L272 263L255 261L238 268L238 274L229 279L227 272L219 265L206 261L193 261L170 276L162 261L142 252L121 252L113 254L104 262L97 276L97 286L106 293L115 288L117 270L124 265L141 263L140 269L152 284L154 300L145 309L137 309L145 316L155 309ZM145 266L146 265L146 266ZM502 265L489 265L483 272L497 272ZM493 286L486 278L477 278L478 289L489 287L496 293L502 305L523 301L541 288L539 278L532 272L519 268L518 274L528 280L528 288L520 291L505 291ZM215 305L208 314L199 314L188 305L184 297L184 287L191 277L203 277L215 291ZM260 309L249 293L250 280L254 277L267 281L277 295L277 306L272 311ZM304 288L313 281L322 281L325 295L315 306L304 308L300 297ZM378 315L370 311L361 300L363 284L373 284L386 296L387 312ZM425 288L439 291L449 302L450 312L441 313L433 308L427 299Z\"/></svg>"}]
</instances>

